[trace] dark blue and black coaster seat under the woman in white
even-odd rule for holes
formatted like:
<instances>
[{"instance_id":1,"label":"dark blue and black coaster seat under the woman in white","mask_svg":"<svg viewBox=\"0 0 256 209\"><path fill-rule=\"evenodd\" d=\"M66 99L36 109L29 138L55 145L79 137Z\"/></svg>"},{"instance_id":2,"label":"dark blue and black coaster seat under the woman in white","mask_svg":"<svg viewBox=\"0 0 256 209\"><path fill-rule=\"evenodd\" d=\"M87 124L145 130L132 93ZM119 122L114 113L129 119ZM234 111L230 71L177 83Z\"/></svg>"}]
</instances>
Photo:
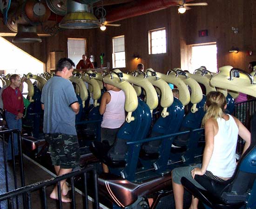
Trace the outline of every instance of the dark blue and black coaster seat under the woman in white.
<instances>
[{"instance_id":1,"label":"dark blue and black coaster seat under the woman in white","mask_svg":"<svg viewBox=\"0 0 256 209\"><path fill-rule=\"evenodd\" d=\"M212 209L255 208L256 198L256 115L251 120L251 144L240 158L233 176L224 182L217 182L206 176L195 176L205 189L195 187L182 177L182 185L206 206ZM254 198L254 199L253 199ZM252 202L251 202L252 201Z\"/></svg>"}]
</instances>

